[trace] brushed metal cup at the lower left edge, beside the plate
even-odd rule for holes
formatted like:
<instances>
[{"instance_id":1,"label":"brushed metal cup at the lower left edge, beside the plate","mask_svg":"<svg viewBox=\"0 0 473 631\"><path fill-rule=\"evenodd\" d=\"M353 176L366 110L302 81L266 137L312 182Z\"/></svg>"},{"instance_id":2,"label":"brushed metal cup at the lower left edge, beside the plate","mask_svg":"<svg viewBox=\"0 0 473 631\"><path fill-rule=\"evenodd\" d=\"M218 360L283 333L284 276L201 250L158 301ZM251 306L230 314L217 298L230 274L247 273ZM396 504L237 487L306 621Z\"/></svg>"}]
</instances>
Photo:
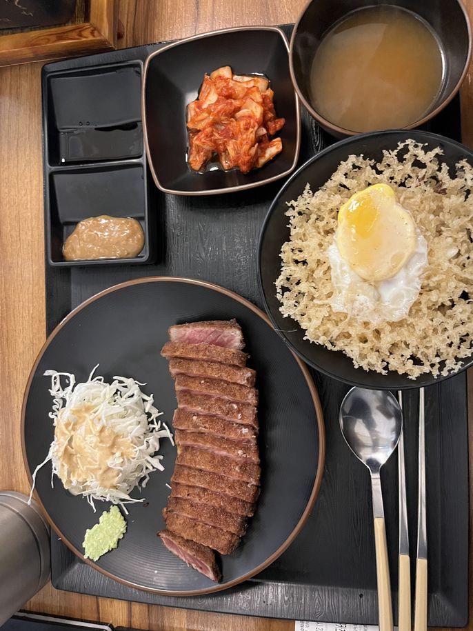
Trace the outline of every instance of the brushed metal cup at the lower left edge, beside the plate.
<instances>
[{"instance_id":1,"label":"brushed metal cup at the lower left edge, beside the plate","mask_svg":"<svg viewBox=\"0 0 473 631\"><path fill-rule=\"evenodd\" d=\"M48 580L49 527L37 503L0 492L0 626Z\"/></svg>"}]
</instances>

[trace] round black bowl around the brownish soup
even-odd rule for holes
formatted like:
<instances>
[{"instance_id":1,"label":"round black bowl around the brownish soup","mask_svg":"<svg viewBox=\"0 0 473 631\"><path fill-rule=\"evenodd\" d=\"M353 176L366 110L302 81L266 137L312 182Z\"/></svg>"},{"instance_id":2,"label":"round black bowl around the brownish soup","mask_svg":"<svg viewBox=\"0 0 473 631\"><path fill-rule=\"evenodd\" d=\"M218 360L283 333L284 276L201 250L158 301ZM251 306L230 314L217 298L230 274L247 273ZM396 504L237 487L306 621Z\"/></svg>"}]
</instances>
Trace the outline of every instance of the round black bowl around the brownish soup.
<instances>
[{"instance_id":1,"label":"round black bowl around the brownish soup","mask_svg":"<svg viewBox=\"0 0 473 631\"><path fill-rule=\"evenodd\" d=\"M311 0L294 26L290 43L290 71L297 94L310 114L337 138L356 134L334 125L312 107L309 77L314 54L325 34L348 13L373 6L373 0ZM460 0L383 0L383 4L405 8L420 16L436 33L445 63L441 90L430 111L406 129L432 119L458 92L467 71L471 53L470 21Z\"/></svg>"}]
</instances>

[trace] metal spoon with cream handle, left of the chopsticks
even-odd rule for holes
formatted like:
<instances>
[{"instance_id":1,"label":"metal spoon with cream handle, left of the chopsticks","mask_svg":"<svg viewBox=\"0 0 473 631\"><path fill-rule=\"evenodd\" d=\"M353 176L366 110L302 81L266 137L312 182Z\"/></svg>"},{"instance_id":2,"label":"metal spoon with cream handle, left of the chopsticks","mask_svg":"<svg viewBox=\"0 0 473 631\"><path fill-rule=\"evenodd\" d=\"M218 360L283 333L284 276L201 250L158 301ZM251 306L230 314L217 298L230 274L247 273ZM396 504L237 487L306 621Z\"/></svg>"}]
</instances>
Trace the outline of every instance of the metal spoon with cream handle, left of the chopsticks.
<instances>
[{"instance_id":1,"label":"metal spoon with cream handle, left of the chopsticks","mask_svg":"<svg viewBox=\"0 0 473 631\"><path fill-rule=\"evenodd\" d=\"M387 390L352 388L341 403L340 427L352 452L370 470L379 630L392 631L391 581L379 472L399 442L403 415L399 403Z\"/></svg>"}]
</instances>

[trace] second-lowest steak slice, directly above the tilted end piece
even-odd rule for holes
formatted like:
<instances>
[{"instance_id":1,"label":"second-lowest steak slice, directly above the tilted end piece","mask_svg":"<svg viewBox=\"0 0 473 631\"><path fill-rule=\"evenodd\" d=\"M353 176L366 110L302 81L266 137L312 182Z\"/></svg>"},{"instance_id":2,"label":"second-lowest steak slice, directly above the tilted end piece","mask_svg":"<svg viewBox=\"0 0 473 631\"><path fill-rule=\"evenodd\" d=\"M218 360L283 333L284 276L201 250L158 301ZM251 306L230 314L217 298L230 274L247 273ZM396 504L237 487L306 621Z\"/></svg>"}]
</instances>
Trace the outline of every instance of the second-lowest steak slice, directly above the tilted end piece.
<instances>
[{"instance_id":1,"label":"second-lowest steak slice, directly above the tilted end piece","mask_svg":"<svg viewBox=\"0 0 473 631\"><path fill-rule=\"evenodd\" d=\"M179 534L184 539L190 539L201 545L207 545L221 554L232 554L240 538L228 530L221 530L196 519L190 519L178 512L164 509L164 519L168 530Z\"/></svg>"}]
</instances>

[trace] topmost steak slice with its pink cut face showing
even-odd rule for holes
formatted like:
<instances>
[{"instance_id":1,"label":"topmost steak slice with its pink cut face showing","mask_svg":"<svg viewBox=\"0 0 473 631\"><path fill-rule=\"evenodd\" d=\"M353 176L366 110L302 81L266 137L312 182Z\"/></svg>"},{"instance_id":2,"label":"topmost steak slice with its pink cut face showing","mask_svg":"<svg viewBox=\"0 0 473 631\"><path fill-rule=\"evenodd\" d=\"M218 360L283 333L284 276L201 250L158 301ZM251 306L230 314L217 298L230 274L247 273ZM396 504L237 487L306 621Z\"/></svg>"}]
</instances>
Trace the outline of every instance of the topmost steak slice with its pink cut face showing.
<instances>
[{"instance_id":1,"label":"topmost steak slice with its pink cut face showing","mask_svg":"<svg viewBox=\"0 0 473 631\"><path fill-rule=\"evenodd\" d=\"M241 328L236 320L209 320L177 324L170 327L169 337L172 342L215 344L225 348L238 348L239 350L245 345Z\"/></svg>"}]
</instances>

